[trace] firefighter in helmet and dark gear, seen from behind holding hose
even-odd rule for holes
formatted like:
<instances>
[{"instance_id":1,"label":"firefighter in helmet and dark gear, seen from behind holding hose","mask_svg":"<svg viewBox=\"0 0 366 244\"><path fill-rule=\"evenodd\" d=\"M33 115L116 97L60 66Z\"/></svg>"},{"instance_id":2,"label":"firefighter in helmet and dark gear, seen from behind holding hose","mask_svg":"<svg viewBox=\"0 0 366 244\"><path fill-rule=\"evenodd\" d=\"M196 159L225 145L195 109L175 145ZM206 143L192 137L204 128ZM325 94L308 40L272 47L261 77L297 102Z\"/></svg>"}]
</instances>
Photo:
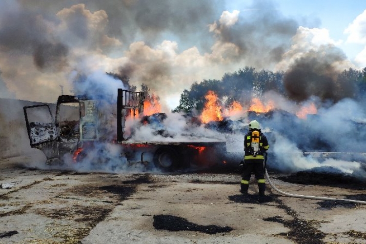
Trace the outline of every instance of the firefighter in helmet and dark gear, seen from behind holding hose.
<instances>
[{"instance_id":1,"label":"firefighter in helmet and dark gear, seen from behind holding hose","mask_svg":"<svg viewBox=\"0 0 366 244\"><path fill-rule=\"evenodd\" d=\"M244 160L239 164L243 172L242 181L240 183L241 193L248 193L249 180L251 174L254 173L258 182L259 195L264 196L264 153L268 148L269 144L267 138L261 132L259 122L256 120L249 122L249 131L244 137Z\"/></svg>"}]
</instances>

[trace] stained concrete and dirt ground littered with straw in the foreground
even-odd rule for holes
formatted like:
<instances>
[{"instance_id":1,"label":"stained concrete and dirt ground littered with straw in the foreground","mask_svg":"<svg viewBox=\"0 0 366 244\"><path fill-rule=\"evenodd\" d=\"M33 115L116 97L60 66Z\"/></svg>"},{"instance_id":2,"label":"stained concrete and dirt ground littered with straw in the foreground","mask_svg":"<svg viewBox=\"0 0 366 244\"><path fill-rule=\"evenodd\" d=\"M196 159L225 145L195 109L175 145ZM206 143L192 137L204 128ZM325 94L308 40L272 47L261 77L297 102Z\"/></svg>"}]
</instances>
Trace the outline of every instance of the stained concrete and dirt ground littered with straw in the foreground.
<instances>
[{"instance_id":1,"label":"stained concrete and dirt ground littered with straw in the foreground","mask_svg":"<svg viewBox=\"0 0 366 244\"><path fill-rule=\"evenodd\" d=\"M239 193L237 172L80 173L0 161L0 244L366 244L366 205ZM350 198L365 188L305 185L294 194Z\"/></svg>"}]
</instances>

